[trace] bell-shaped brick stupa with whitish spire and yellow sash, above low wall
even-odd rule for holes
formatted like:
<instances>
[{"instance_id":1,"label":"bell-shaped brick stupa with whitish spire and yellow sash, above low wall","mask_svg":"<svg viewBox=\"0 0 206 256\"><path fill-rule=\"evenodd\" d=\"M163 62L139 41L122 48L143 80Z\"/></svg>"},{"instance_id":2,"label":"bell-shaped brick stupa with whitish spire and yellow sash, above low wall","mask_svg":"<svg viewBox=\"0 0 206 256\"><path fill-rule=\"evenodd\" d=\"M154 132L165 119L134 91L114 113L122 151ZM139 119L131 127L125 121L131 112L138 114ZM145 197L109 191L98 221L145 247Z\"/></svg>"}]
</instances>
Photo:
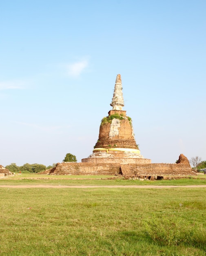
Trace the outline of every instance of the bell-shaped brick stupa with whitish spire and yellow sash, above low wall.
<instances>
[{"instance_id":1,"label":"bell-shaped brick stupa with whitish spire and yellow sash, above low wall","mask_svg":"<svg viewBox=\"0 0 206 256\"><path fill-rule=\"evenodd\" d=\"M117 75L112 102L113 109L108 116L102 119L97 143L93 153L82 159L82 162L90 163L124 163L137 164L151 163L141 154L135 141L132 119L126 116L124 98L122 93L122 80Z\"/></svg>"}]
</instances>

